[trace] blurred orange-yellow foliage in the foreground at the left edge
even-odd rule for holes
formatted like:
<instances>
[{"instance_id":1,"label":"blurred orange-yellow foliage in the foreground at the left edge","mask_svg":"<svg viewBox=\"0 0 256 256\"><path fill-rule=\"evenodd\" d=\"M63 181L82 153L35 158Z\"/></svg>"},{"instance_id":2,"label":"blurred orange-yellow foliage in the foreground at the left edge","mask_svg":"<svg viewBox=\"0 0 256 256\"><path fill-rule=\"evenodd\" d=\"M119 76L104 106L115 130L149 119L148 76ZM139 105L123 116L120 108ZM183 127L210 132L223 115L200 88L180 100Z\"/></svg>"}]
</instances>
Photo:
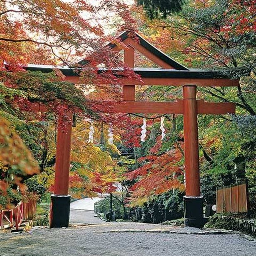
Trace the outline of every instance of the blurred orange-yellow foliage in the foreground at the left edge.
<instances>
[{"instance_id":1,"label":"blurred orange-yellow foliage in the foreground at the left edge","mask_svg":"<svg viewBox=\"0 0 256 256\"><path fill-rule=\"evenodd\" d=\"M15 183L21 192L25 192L21 177L38 173L39 166L15 132L15 127L5 118L0 117L0 122L0 209L5 209L13 207L13 203L21 198L9 184Z\"/></svg>"}]
</instances>

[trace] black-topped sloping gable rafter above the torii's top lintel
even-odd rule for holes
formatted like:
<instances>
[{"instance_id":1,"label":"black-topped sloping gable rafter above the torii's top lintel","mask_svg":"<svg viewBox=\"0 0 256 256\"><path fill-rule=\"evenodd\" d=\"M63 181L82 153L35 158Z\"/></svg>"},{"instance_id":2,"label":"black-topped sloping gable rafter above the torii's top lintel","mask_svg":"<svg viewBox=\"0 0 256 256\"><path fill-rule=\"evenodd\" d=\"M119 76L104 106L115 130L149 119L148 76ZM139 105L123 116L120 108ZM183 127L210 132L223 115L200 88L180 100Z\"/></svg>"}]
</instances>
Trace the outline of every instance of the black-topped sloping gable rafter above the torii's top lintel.
<instances>
[{"instance_id":1,"label":"black-topped sloping gable rafter above the torii's top lintel","mask_svg":"<svg viewBox=\"0 0 256 256\"><path fill-rule=\"evenodd\" d=\"M125 31L116 39L125 44L126 47L128 47L128 49L125 49L125 54L130 55L133 54L132 52L134 52L134 50L137 50L163 69L189 70L187 67L183 66L179 62L176 62L174 59L170 58L168 55L150 44L147 40L145 40L137 33L133 32L133 34L131 34L131 32ZM106 45L106 47L110 47L117 52L122 50L122 48L118 47L118 45L115 43L109 43ZM81 66L86 66L89 63L90 61L87 59L83 59L78 62L78 64ZM128 64L130 67L133 66L131 63Z\"/></svg>"}]
</instances>

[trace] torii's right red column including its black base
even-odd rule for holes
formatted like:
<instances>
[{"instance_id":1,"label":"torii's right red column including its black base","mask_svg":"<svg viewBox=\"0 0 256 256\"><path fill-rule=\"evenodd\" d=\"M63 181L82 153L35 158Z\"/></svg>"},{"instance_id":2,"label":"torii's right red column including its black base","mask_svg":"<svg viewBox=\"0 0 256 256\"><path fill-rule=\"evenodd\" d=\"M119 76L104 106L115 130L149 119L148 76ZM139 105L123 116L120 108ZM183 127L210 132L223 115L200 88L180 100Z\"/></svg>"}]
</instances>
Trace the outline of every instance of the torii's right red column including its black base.
<instances>
[{"instance_id":1,"label":"torii's right red column including its black base","mask_svg":"<svg viewBox=\"0 0 256 256\"><path fill-rule=\"evenodd\" d=\"M186 226L204 225L203 197L200 194L199 151L197 128L197 86L183 86L186 195Z\"/></svg>"}]
</instances>

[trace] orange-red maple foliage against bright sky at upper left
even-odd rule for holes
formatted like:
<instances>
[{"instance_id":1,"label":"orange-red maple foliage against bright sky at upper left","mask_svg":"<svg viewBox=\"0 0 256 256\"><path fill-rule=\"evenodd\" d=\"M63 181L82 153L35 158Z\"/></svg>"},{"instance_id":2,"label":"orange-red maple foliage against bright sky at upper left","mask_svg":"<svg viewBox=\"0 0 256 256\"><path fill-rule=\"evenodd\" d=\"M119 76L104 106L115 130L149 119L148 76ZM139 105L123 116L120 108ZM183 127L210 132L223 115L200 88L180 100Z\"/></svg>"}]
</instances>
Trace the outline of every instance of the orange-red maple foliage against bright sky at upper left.
<instances>
[{"instance_id":1,"label":"orange-red maple foliage against bright sky at upper left","mask_svg":"<svg viewBox=\"0 0 256 256\"><path fill-rule=\"evenodd\" d=\"M22 66L35 60L35 56L38 59L37 63L46 64L48 61L47 64L68 64L81 68L84 64L83 62L77 64L78 59L87 57L90 67L94 69L81 74L84 84L93 85L94 81L101 79L95 71L98 64L109 68L121 66L121 62L118 62L117 58L114 59L116 54L111 51L110 47L106 47L106 43L114 39L105 36L103 26L110 23L114 15L121 19L117 30L127 27L128 22L130 28L133 28L134 24L128 6L122 0L111 2L102 0L97 4L80 0L72 2L59 0L2 1L0 7L2 10L0 13L2 19L0 41L3 46L0 52L2 69L21 70ZM51 55L49 55L49 50ZM55 60L51 59L52 56ZM81 72L81 69L79 71ZM110 74L104 75L105 79L107 77L117 80ZM62 74L58 76L60 80L64 79ZM5 85L15 86L11 85L13 81L8 83L8 76L4 79ZM114 86L111 88L113 91L118 91L114 89ZM26 88L22 89L22 91L25 90ZM83 95L84 92L81 91L80 94ZM33 101L38 99L33 99ZM45 101L44 103L46 104ZM83 106L85 107L85 104Z\"/></svg>"}]
</instances>

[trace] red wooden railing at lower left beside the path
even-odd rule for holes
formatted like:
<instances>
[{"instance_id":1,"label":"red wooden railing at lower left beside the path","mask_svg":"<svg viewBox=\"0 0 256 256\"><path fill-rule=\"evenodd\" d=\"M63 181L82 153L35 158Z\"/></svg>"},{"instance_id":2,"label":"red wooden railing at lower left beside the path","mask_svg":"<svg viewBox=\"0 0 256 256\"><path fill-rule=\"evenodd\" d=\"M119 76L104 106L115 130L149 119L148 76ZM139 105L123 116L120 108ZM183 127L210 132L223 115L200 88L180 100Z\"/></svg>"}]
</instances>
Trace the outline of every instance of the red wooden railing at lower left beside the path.
<instances>
[{"instance_id":1,"label":"red wooden railing at lower left beside the path","mask_svg":"<svg viewBox=\"0 0 256 256\"><path fill-rule=\"evenodd\" d=\"M0 210L0 229L14 226L19 229L24 219L30 219L36 215L37 199L28 202L19 202L13 209Z\"/></svg>"}]
</instances>

